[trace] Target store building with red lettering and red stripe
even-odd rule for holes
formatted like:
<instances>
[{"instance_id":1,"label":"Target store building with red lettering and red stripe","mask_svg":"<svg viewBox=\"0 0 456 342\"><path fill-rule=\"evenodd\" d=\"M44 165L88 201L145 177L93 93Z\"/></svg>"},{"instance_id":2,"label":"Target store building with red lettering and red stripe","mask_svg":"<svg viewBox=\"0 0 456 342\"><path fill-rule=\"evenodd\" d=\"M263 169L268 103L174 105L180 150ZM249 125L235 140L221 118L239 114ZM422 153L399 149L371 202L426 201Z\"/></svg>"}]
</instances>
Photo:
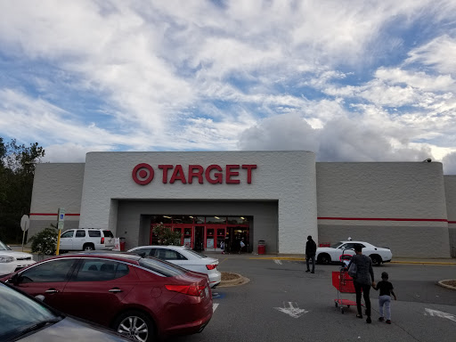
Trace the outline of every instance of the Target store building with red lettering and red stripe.
<instances>
[{"instance_id":1,"label":"Target store building with red lettering and red stripe","mask_svg":"<svg viewBox=\"0 0 456 342\"><path fill-rule=\"evenodd\" d=\"M163 223L196 250L304 254L364 240L394 256L450 257L456 176L436 162L315 162L310 151L90 152L85 163L37 164L28 237L107 228L126 248L157 242Z\"/></svg>"}]
</instances>

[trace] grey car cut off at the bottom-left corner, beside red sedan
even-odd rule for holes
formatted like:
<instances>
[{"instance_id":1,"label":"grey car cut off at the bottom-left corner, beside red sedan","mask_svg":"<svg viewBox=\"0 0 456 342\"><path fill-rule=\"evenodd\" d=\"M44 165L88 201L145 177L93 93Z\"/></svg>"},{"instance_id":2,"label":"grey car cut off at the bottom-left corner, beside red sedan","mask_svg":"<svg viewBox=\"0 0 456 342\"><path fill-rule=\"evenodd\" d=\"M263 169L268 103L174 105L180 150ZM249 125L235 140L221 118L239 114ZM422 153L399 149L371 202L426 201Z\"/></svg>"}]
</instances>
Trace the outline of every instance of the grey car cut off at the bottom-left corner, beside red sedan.
<instances>
[{"instance_id":1,"label":"grey car cut off at the bottom-left corner, beside red sedan","mask_svg":"<svg viewBox=\"0 0 456 342\"><path fill-rule=\"evenodd\" d=\"M0 341L131 341L114 331L70 318L1 281L0 298Z\"/></svg>"}]
</instances>

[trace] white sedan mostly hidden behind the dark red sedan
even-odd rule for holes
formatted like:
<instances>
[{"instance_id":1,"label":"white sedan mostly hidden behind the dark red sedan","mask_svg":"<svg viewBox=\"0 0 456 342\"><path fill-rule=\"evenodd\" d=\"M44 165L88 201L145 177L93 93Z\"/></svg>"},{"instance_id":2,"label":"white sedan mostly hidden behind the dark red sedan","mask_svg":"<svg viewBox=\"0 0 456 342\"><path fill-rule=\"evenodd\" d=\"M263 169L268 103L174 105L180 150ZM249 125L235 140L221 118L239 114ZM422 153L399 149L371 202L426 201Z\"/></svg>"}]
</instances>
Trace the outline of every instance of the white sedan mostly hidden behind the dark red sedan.
<instances>
[{"instance_id":1,"label":"white sedan mostly hidden behind the dark red sedan","mask_svg":"<svg viewBox=\"0 0 456 342\"><path fill-rule=\"evenodd\" d=\"M179 265L187 270L208 274L209 284L215 289L222 281L218 271L218 259L208 257L183 246L141 246L128 250L141 256L154 256L167 262Z\"/></svg>"}]
</instances>

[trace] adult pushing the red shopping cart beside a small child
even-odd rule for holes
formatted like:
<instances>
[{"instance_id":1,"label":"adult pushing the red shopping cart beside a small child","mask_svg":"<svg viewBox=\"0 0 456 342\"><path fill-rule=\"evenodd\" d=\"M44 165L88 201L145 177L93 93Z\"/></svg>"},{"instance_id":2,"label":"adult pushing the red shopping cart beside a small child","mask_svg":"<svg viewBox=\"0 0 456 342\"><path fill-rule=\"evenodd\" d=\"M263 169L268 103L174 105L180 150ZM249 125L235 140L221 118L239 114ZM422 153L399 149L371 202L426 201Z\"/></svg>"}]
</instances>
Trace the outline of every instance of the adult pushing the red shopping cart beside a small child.
<instances>
[{"instance_id":1,"label":"adult pushing the red shopping cart beside a small child","mask_svg":"<svg viewBox=\"0 0 456 342\"><path fill-rule=\"evenodd\" d=\"M362 245L356 243L354 245L354 253L348 264L348 270L352 264L356 265L356 275L354 278L354 291L356 292L356 307L358 314L356 317L362 318L361 311L361 295L364 297L364 304L366 305L367 323L371 323L371 299L369 293L371 286L375 287L374 271L372 269L372 260L369 256L362 254Z\"/></svg>"}]
</instances>

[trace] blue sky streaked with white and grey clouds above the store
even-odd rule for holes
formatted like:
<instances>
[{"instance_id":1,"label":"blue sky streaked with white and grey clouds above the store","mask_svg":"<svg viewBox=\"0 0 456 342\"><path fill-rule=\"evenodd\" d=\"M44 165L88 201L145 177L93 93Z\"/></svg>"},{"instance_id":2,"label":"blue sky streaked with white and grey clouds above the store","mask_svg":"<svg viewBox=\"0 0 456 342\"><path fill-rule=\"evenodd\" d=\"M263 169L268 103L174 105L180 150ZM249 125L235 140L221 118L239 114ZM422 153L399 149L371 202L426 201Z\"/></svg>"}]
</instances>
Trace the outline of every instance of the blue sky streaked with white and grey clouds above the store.
<instances>
[{"instance_id":1,"label":"blue sky streaked with white and grey clouds above the store","mask_svg":"<svg viewBox=\"0 0 456 342\"><path fill-rule=\"evenodd\" d=\"M456 175L456 1L0 0L0 136Z\"/></svg>"}]
</instances>

